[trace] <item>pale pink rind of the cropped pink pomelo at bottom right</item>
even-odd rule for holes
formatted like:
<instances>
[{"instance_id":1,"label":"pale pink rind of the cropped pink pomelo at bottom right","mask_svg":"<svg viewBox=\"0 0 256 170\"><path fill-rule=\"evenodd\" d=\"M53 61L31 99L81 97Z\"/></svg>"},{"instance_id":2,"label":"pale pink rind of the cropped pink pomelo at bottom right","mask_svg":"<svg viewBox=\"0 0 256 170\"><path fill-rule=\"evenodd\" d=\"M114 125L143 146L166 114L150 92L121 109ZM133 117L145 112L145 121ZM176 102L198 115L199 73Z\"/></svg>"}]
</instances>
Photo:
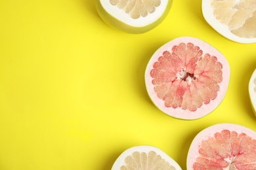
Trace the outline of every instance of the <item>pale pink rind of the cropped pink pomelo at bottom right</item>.
<instances>
[{"instance_id":1,"label":"pale pink rind of the cropped pink pomelo at bottom right","mask_svg":"<svg viewBox=\"0 0 256 170\"><path fill-rule=\"evenodd\" d=\"M202 141L209 139L209 137L213 137L215 133L221 132L224 129L227 129L229 131L236 131L236 133L238 134L245 133L247 136L256 140L256 131L253 131L253 129L249 129L248 127L241 126L238 124L221 123L206 127L205 129L200 131L196 135L196 137L194 137L192 143L190 144L186 160L186 167L188 170L193 169L193 164L196 162L196 158L200 155L198 153L198 150L200 148L200 144L202 143Z\"/></svg>"}]
</instances>

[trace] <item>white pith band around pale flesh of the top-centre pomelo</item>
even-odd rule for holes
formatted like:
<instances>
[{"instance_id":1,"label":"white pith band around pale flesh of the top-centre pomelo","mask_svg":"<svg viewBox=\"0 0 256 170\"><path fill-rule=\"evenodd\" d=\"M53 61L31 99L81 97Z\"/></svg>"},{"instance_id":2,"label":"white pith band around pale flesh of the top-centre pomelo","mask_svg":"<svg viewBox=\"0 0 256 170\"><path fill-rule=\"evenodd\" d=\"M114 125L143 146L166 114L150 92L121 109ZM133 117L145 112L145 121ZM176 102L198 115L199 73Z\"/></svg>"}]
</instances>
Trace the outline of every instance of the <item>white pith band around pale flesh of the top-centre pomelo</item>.
<instances>
[{"instance_id":1,"label":"white pith band around pale flesh of the top-centre pomelo","mask_svg":"<svg viewBox=\"0 0 256 170\"><path fill-rule=\"evenodd\" d=\"M119 9L117 5L112 5L110 3L110 0L100 0L100 3L102 4L102 7L108 12L110 15L112 15L117 20L120 20L121 22L131 25L133 27L143 27L149 24L152 24L165 12L165 9L167 7L169 0L161 0L161 4L159 7L156 7L156 10L153 13L148 13L146 17L140 16L137 19L131 18L129 14L125 12L123 9Z\"/></svg>"}]
</instances>

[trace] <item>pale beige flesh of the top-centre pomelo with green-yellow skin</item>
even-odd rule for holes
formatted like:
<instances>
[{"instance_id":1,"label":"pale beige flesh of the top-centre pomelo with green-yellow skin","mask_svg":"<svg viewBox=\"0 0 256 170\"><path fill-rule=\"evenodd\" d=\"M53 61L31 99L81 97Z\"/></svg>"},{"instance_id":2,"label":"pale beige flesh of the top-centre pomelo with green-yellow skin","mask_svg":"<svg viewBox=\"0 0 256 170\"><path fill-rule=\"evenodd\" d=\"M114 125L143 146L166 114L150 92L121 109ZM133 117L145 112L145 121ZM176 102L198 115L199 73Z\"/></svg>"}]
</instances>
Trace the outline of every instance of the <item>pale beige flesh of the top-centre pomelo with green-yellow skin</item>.
<instances>
[{"instance_id":1,"label":"pale beige flesh of the top-centre pomelo with green-yellow skin","mask_svg":"<svg viewBox=\"0 0 256 170\"><path fill-rule=\"evenodd\" d=\"M123 9L133 19L140 16L145 17L148 13L153 13L156 7L159 7L161 0L148 0L148 1L134 1L134 0L110 0L112 5L116 5L119 9Z\"/></svg>"}]
</instances>

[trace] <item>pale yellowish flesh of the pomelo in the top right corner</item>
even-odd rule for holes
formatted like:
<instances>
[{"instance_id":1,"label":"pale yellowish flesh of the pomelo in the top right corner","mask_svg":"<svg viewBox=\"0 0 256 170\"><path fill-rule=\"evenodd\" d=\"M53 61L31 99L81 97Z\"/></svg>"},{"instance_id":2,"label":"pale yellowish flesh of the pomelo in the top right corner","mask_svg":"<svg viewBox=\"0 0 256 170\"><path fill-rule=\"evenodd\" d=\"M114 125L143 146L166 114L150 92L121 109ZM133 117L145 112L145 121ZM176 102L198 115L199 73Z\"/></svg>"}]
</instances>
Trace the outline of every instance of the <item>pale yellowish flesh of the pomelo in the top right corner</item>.
<instances>
[{"instance_id":1,"label":"pale yellowish flesh of the pomelo in the top right corner","mask_svg":"<svg viewBox=\"0 0 256 170\"><path fill-rule=\"evenodd\" d=\"M211 6L217 20L227 25L234 35L245 38L256 37L255 0L213 0Z\"/></svg>"}]
</instances>

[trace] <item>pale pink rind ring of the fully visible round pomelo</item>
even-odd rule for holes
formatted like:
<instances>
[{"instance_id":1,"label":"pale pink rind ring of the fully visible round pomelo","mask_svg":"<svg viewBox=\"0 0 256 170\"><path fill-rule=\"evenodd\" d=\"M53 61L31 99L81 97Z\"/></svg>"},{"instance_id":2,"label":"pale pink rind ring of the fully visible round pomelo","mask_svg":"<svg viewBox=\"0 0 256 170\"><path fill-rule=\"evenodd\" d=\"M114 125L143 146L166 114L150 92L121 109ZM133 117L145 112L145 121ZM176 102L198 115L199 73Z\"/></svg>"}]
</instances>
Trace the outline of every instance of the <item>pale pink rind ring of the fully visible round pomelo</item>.
<instances>
[{"instance_id":1,"label":"pale pink rind ring of the fully visible round pomelo","mask_svg":"<svg viewBox=\"0 0 256 170\"><path fill-rule=\"evenodd\" d=\"M217 95L217 98L208 105L202 105L198 110L195 112L191 112L189 110L182 110L181 108L173 109L171 107L165 107L164 101L162 99L159 99L156 93L154 92L154 85L152 84L152 78L150 76L150 71L153 69L153 64L158 61L158 58L162 56L163 52L165 50L171 50L171 48L177 44L180 44L181 42L188 43L192 42L195 46L199 46L201 50L203 50L204 54L210 54L211 56L216 56L218 61L220 61L223 65L223 81L219 84L220 91ZM207 51L205 51L207 50ZM203 56L202 55L202 56ZM146 83L146 90L148 92L148 95L154 105L158 107L161 111L163 111L165 114L168 114L169 116L172 116L174 118L179 118L182 120L195 120L198 118L202 118L203 116L206 116L207 114L213 112L213 110L217 109L217 107L221 104L223 101L226 91L228 90L230 80L230 67L229 63L226 60L226 58L223 56L219 50L208 44L207 42L197 39L194 37L178 37L176 39L173 39L172 41L169 41L152 55L150 60L148 61L148 65L146 66L145 71L145 83Z\"/></svg>"}]
</instances>

